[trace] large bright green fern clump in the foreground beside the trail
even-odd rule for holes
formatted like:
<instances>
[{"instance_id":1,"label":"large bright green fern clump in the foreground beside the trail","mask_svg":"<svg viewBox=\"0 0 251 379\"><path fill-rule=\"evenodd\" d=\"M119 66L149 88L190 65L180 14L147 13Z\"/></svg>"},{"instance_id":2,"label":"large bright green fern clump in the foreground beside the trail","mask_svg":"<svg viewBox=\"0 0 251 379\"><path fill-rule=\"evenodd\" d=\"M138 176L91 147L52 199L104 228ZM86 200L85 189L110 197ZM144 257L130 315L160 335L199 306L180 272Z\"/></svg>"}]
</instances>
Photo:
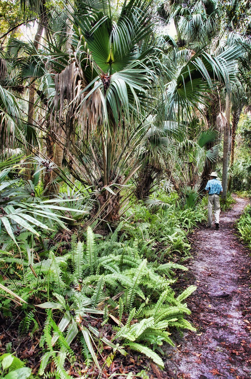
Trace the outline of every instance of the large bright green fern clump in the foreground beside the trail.
<instances>
[{"instance_id":1,"label":"large bright green fern clump in the foreground beside the trail","mask_svg":"<svg viewBox=\"0 0 251 379\"><path fill-rule=\"evenodd\" d=\"M2 251L1 260L12 275L4 282L1 278L1 282L9 293L13 291L22 298L19 302L25 302L20 332L31 328L34 332L38 327L36 309L46 311L40 341L46 350L41 375L53 360L58 375L68 377L64 362L66 357L74 361L70 343L75 338L99 367L91 341L94 337L100 340L100 330L86 323L87 315L103 317L103 324L108 319L117 323L115 334L110 339L101 338L100 343L122 354L129 347L160 366L164 363L153 349L164 341L173 345L170 328L195 330L184 318L190 314L184 300L196 287L190 286L178 296L171 288L176 280L173 270L186 268L171 262L149 262L137 239L123 240L125 234L119 237L121 228L122 224L105 240L97 240L100 236L95 236L89 227L86 241L79 242L73 235L70 250L59 252L58 244L48 252L48 258L37 263L29 261L25 251L16 254L13 242L6 244L7 254ZM1 302L4 315L12 317L11 298L2 298ZM86 360L90 357L86 353Z\"/></svg>"}]
</instances>

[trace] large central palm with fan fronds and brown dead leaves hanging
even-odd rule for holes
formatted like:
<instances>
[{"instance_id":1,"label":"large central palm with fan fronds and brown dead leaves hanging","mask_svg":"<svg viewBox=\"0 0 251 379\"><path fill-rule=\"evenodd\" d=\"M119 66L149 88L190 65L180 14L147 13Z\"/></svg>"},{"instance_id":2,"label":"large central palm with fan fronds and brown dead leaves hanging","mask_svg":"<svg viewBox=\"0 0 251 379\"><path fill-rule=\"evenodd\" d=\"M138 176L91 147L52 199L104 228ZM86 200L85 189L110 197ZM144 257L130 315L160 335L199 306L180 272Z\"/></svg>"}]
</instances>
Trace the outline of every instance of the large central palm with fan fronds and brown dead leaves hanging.
<instances>
[{"instance_id":1,"label":"large central palm with fan fronds and brown dead leaves hanging","mask_svg":"<svg viewBox=\"0 0 251 379\"><path fill-rule=\"evenodd\" d=\"M62 52L50 56L58 72L51 125L59 134L64 129L68 144L75 136L71 152L109 220L118 217L121 186L140 166L142 122L168 70L158 58L149 6L131 0L117 21L107 6L81 3L72 14L70 64Z\"/></svg>"}]
</instances>

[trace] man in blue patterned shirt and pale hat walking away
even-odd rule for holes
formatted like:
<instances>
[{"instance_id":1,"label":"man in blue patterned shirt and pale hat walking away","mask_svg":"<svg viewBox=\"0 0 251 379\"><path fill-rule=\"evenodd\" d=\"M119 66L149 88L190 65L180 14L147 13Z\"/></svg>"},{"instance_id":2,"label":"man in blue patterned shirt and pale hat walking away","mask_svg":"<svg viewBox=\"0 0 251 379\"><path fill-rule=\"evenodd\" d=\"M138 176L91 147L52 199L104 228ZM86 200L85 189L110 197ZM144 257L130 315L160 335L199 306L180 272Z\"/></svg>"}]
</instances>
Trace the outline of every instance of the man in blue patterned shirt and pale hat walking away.
<instances>
[{"instance_id":1,"label":"man in blue patterned shirt and pale hat walking away","mask_svg":"<svg viewBox=\"0 0 251 379\"><path fill-rule=\"evenodd\" d=\"M214 205L214 218L215 229L219 229L220 221L220 194L223 192L223 188L220 180L217 180L217 172L211 172L209 175L209 181L206 185L206 192L208 193L208 227L212 227L213 222L213 205Z\"/></svg>"}]
</instances>

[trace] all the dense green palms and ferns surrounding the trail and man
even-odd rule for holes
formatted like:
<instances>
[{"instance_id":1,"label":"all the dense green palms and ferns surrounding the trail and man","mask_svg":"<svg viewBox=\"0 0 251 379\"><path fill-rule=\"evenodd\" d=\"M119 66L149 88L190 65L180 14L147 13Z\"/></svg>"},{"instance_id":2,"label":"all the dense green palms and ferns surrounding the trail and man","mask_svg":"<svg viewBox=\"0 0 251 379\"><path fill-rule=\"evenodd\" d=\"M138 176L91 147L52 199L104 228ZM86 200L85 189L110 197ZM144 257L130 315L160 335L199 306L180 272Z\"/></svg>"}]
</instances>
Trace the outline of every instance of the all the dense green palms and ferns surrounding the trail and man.
<instances>
[{"instance_id":1,"label":"all the dense green palms and ferns surrounding the trail and man","mask_svg":"<svg viewBox=\"0 0 251 379\"><path fill-rule=\"evenodd\" d=\"M210 172L222 210L251 195L250 4L13 0L0 13L0 322L37 349L23 362L10 340L1 376L108 377L129 351L163 368L172 332L196 331L196 287L176 281ZM251 247L250 207L237 229Z\"/></svg>"}]
</instances>

